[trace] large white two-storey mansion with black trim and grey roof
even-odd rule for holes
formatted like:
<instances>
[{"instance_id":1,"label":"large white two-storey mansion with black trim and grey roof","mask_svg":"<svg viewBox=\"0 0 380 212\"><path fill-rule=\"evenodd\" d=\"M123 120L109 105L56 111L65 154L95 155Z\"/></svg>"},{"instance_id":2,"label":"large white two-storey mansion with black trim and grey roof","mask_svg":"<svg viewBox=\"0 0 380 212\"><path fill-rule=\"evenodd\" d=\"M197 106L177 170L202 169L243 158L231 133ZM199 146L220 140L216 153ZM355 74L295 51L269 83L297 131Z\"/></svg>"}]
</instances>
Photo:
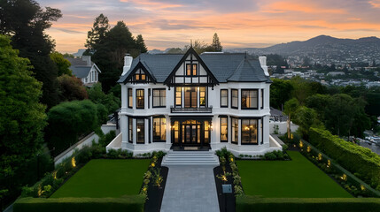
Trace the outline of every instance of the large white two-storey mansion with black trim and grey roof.
<instances>
[{"instance_id":1,"label":"large white two-storey mansion with black trim and grey roof","mask_svg":"<svg viewBox=\"0 0 380 212\"><path fill-rule=\"evenodd\" d=\"M125 57L120 134L109 148L135 155L228 148L236 155L281 149L269 137L266 57L222 52ZM189 148L191 147L191 148Z\"/></svg>"}]
</instances>

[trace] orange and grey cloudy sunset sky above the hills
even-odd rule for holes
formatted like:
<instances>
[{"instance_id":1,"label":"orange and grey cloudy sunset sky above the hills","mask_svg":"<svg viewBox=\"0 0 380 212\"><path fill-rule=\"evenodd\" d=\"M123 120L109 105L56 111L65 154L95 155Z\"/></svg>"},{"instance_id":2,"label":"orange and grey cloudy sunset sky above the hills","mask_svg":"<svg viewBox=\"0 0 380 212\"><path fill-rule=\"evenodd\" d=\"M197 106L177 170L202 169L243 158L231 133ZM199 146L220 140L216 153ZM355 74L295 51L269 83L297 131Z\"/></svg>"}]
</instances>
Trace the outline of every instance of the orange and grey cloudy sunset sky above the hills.
<instances>
[{"instance_id":1,"label":"orange and grey cloudy sunset sky above the hills","mask_svg":"<svg viewBox=\"0 0 380 212\"><path fill-rule=\"evenodd\" d=\"M47 33L60 52L84 49L94 19L104 13L143 34L148 49L183 47L190 39L225 49L305 41L320 34L339 38L380 37L380 0L37 0L63 18Z\"/></svg>"}]
</instances>

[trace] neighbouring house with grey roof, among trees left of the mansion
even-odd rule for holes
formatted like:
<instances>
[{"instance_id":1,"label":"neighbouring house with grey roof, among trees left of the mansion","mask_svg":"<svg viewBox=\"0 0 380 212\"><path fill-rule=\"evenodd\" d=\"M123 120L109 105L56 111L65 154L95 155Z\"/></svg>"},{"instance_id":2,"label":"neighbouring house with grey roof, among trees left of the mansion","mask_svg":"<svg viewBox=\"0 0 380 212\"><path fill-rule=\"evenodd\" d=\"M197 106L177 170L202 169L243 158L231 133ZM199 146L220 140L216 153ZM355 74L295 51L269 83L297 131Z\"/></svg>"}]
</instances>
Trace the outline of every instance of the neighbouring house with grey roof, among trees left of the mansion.
<instances>
[{"instance_id":1,"label":"neighbouring house with grey roof, among trees left of the mansion","mask_svg":"<svg viewBox=\"0 0 380 212\"><path fill-rule=\"evenodd\" d=\"M81 58L66 57L71 63L69 69L73 75L83 82L84 86L91 87L99 81L100 70L97 64L91 62L90 56L83 56Z\"/></svg>"}]
</instances>

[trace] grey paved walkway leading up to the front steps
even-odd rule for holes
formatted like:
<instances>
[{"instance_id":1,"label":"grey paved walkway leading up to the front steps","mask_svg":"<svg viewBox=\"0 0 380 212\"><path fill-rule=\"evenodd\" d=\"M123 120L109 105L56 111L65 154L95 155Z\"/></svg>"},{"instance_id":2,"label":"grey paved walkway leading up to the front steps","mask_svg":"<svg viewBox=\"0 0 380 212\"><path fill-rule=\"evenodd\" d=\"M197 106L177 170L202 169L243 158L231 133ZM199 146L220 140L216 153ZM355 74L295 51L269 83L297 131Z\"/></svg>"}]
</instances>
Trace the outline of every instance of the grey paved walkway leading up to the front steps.
<instances>
[{"instance_id":1,"label":"grey paved walkway leading up to the front steps","mask_svg":"<svg viewBox=\"0 0 380 212\"><path fill-rule=\"evenodd\" d=\"M161 212L219 212L213 168L210 165L168 165Z\"/></svg>"}]
</instances>

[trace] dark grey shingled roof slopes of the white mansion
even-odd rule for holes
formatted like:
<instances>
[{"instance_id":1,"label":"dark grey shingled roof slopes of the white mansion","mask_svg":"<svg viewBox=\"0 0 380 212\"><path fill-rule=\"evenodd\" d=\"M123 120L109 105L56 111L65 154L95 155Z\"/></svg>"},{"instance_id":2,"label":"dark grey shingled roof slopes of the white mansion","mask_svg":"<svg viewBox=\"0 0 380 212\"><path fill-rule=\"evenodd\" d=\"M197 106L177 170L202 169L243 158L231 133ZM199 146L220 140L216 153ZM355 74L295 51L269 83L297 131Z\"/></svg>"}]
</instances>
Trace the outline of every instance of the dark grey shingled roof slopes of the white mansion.
<instances>
[{"instance_id":1,"label":"dark grey shingled roof slopes of the white mansion","mask_svg":"<svg viewBox=\"0 0 380 212\"><path fill-rule=\"evenodd\" d=\"M180 62L183 55L171 54L141 54L136 57L130 70L120 77L118 82L124 82L129 73L141 61L143 66L157 79L164 82L173 71L176 64ZM246 57L243 53L206 53L199 56L219 82L244 81L244 82L271 82L265 76L264 70L258 60Z\"/></svg>"}]
</instances>

